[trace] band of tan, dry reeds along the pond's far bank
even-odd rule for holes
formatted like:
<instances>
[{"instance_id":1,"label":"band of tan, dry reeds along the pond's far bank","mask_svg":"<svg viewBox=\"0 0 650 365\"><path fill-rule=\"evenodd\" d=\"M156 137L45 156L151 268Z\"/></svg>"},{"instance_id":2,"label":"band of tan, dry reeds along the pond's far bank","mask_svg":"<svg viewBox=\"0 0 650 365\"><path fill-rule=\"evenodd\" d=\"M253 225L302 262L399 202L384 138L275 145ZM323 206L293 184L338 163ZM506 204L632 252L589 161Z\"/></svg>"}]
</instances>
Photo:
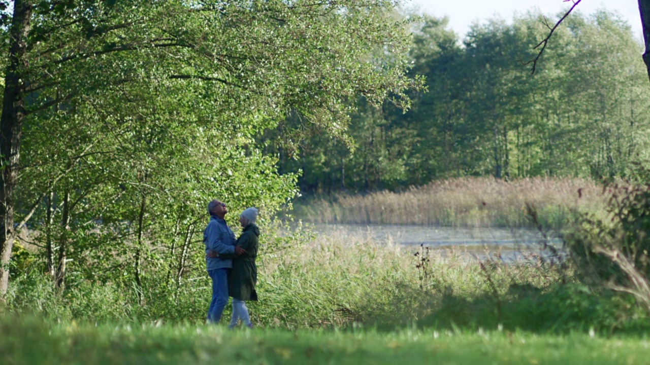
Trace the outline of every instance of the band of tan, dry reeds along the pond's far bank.
<instances>
[{"instance_id":1,"label":"band of tan, dry reeds along the pond's far bank","mask_svg":"<svg viewBox=\"0 0 650 365\"><path fill-rule=\"evenodd\" d=\"M294 204L293 215L313 223L525 227L529 204L538 210L540 223L559 228L575 209L603 207L602 192L585 179L465 177L404 192L307 198Z\"/></svg>"}]
</instances>

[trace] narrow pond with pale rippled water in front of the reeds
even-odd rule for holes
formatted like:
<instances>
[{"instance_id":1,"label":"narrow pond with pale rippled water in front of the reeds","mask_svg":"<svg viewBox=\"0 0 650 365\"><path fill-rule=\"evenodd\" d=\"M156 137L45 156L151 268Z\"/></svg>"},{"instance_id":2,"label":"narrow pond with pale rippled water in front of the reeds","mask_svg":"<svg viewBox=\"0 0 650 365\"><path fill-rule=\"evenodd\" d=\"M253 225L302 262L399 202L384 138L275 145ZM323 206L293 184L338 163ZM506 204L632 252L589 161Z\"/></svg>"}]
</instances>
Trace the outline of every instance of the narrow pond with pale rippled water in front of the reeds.
<instances>
[{"instance_id":1,"label":"narrow pond with pale rippled water in front of the reeds","mask_svg":"<svg viewBox=\"0 0 650 365\"><path fill-rule=\"evenodd\" d=\"M541 253L543 235L537 229L502 227L439 227L424 225L358 225L315 224L318 234L346 234L370 237L380 243L413 246L420 245L462 257L500 255L504 260L515 260L530 253ZM547 242L562 247L562 241L547 232Z\"/></svg>"}]
</instances>

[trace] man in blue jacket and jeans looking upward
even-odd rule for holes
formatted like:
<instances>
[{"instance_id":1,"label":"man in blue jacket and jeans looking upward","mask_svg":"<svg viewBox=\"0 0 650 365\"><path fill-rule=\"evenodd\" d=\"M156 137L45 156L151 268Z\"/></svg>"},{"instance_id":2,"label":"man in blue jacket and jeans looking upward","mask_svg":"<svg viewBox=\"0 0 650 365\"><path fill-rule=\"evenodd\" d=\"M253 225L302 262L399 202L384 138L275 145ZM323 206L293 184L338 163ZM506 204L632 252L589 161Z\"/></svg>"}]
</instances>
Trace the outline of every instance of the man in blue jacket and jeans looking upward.
<instances>
[{"instance_id":1,"label":"man in blue jacket and jeans looking upward","mask_svg":"<svg viewBox=\"0 0 650 365\"><path fill-rule=\"evenodd\" d=\"M203 231L203 244L205 244L205 265L207 273L212 279L212 301L207 310L208 323L218 323L224 307L228 303L227 271L233 266L231 258L208 256L210 251L220 254L241 255L244 250L235 247L235 234L229 229L224 220L228 208L225 203L214 199L207 205L210 221Z\"/></svg>"}]
</instances>

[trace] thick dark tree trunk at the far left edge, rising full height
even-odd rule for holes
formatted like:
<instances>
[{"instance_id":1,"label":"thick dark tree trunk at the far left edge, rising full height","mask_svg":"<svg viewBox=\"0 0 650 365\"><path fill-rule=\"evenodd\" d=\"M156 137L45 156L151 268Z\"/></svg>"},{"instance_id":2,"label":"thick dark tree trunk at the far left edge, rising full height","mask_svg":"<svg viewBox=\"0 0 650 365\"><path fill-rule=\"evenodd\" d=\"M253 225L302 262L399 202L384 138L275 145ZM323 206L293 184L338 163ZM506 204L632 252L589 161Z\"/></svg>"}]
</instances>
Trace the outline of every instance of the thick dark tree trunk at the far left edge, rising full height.
<instances>
[{"instance_id":1,"label":"thick dark tree trunk at the far left edge, rising full height","mask_svg":"<svg viewBox=\"0 0 650 365\"><path fill-rule=\"evenodd\" d=\"M25 118L23 91L27 66L27 33L31 19L31 2L14 1L14 14L9 32L9 57L5 70L5 94L0 117L0 300L4 300L9 284L9 260L14 246L14 196L18 178L20 134Z\"/></svg>"}]
</instances>

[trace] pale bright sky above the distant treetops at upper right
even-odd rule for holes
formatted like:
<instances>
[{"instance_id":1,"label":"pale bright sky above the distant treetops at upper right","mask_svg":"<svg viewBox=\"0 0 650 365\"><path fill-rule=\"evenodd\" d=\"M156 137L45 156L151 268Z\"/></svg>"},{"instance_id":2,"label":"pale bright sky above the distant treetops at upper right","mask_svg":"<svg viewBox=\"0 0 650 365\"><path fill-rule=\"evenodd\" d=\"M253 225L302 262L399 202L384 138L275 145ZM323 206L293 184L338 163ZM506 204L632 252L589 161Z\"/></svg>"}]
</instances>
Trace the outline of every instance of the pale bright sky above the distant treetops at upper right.
<instances>
[{"instance_id":1,"label":"pale bright sky above the distant treetops at upper right","mask_svg":"<svg viewBox=\"0 0 650 365\"><path fill-rule=\"evenodd\" d=\"M563 0L411 0L406 3L407 8L416 6L421 12L437 17L447 15L450 27L461 38L469 31L473 21L483 23L485 19L498 14L500 18L512 22L515 13L523 14L535 7L543 14L556 15L568 10L571 5L571 2ZM580 10L583 14L593 14L602 8L619 12L632 26L634 35L642 39L637 0L582 0L575 10Z\"/></svg>"}]
</instances>

